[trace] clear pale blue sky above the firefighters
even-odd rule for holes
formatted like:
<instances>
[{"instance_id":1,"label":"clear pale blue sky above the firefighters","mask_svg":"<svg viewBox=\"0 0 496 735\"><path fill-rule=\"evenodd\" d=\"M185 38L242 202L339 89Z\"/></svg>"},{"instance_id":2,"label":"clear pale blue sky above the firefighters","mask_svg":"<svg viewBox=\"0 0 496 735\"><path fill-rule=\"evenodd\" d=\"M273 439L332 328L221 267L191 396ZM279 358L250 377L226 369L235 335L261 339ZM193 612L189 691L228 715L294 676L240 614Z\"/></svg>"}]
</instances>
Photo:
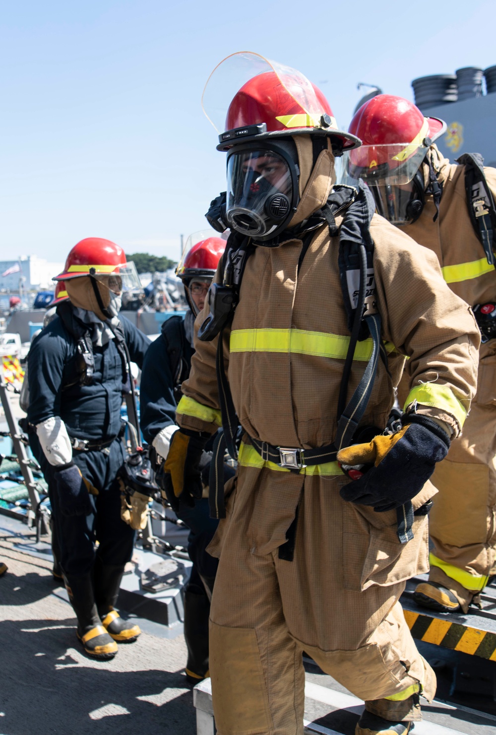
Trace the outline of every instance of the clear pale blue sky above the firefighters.
<instances>
[{"instance_id":1,"label":"clear pale blue sky above the firefighters","mask_svg":"<svg viewBox=\"0 0 496 735\"><path fill-rule=\"evenodd\" d=\"M496 65L494 2L0 0L0 9L0 259L58 261L89 236L179 257L179 235L205 227L225 188L201 93L234 51L298 68L340 126L358 82L412 98L417 76Z\"/></svg>"}]
</instances>

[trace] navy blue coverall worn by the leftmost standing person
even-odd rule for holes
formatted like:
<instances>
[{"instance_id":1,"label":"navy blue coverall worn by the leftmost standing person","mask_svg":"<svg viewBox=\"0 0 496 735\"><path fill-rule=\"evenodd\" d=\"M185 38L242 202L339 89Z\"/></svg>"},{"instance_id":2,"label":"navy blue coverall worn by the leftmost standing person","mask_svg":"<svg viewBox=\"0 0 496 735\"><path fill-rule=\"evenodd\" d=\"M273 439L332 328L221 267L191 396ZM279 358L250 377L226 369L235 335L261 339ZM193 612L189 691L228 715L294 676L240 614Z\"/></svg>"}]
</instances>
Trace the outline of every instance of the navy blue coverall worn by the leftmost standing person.
<instances>
[{"instance_id":1,"label":"navy blue coverall worn by the leftmost standing person","mask_svg":"<svg viewBox=\"0 0 496 735\"><path fill-rule=\"evenodd\" d=\"M133 362L143 365L150 340L125 317L119 317ZM123 565L131 559L134 531L121 520L121 491L116 479L125 452L118 438L121 429L123 395L123 363L109 340L103 347L93 345L95 369L90 385L71 387L75 375L77 341L55 318L32 344L28 356L29 410L28 420L34 426L52 416L60 416L69 437L104 444L102 450L73 450L73 462L82 476L98 492L91 495L93 512L87 516L65 516L58 508L54 467L43 453L40 465L51 491L54 523L60 544L60 565L67 575L90 572L98 559L104 565Z\"/></svg>"}]
</instances>

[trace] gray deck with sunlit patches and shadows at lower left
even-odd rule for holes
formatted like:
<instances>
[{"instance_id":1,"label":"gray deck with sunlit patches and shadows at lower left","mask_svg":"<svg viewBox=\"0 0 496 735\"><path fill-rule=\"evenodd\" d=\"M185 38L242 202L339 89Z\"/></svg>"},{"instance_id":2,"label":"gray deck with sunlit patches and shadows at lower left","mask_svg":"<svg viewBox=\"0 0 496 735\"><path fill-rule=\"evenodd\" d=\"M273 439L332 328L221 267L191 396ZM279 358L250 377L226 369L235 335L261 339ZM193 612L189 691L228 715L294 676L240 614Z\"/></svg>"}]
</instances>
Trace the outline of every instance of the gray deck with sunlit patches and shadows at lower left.
<instances>
[{"instance_id":1,"label":"gray deck with sunlit patches and shadows at lower left","mask_svg":"<svg viewBox=\"0 0 496 735\"><path fill-rule=\"evenodd\" d=\"M71 606L54 594L51 562L22 551L27 532L0 516L9 567L0 578L0 734L193 735L184 637L140 620L143 634L115 659L88 659Z\"/></svg>"}]
</instances>

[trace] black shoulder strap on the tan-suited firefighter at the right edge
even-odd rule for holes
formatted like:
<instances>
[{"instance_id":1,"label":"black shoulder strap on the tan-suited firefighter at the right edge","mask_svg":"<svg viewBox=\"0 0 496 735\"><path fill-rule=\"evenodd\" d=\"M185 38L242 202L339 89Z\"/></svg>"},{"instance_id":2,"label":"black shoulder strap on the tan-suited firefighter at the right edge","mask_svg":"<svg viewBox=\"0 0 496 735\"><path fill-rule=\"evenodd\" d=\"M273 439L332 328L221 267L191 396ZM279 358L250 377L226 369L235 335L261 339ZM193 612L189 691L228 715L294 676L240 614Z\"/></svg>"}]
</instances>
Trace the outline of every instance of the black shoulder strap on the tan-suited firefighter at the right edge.
<instances>
[{"instance_id":1,"label":"black shoulder strap on the tan-suited firefighter at the right edge","mask_svg":"<svg viewBox=\"0 0 496 735\"><path fill-rule=\"evenodd\" d=\"M475 234L481 240L489 265L495 265L496 208L480 153L464 153L456 162L465 167L467 206Z\"/></svg>"}]
</instances>

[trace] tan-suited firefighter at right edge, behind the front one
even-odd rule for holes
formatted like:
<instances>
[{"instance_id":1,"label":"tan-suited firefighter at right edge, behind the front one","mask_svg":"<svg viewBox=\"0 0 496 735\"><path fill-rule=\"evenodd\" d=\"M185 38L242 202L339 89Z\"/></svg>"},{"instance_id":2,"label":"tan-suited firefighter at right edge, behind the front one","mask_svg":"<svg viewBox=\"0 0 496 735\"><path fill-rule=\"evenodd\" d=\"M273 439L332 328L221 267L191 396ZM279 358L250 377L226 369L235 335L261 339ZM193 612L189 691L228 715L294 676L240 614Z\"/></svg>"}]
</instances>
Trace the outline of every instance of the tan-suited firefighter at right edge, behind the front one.
<instances>
[{"instance_id":1,"label":"tan-suited firefighter at right edge, behind the front one","mask_svg":"<svg viewBox=\"0 0 496 735\"><path fill-rule=\"evenodd\" d=\"M347 168L367 182L380 214L436 254L445 281L472 306L481 327L478 392L463 436L432 478L439 494L430 514L431 570L414 593L422 606L466 613L496 572L496 169L484 168L484 176L481 169L470 181L477 171L470 159L451 164L434 143L445 129L409 100L379 95L351 122L363 146L351 151ZM411 379L420 380L409 361L400 401Z\"/></svg>"}]
</instances>

